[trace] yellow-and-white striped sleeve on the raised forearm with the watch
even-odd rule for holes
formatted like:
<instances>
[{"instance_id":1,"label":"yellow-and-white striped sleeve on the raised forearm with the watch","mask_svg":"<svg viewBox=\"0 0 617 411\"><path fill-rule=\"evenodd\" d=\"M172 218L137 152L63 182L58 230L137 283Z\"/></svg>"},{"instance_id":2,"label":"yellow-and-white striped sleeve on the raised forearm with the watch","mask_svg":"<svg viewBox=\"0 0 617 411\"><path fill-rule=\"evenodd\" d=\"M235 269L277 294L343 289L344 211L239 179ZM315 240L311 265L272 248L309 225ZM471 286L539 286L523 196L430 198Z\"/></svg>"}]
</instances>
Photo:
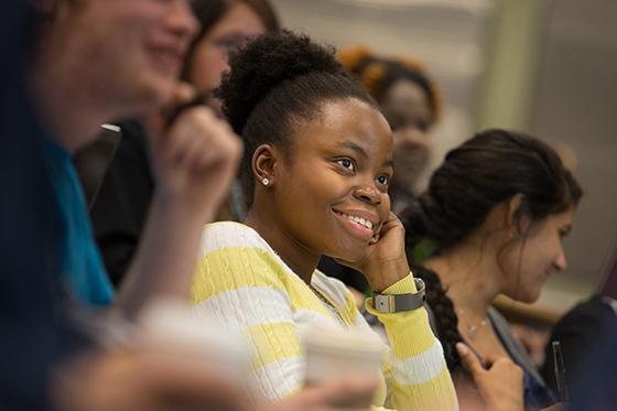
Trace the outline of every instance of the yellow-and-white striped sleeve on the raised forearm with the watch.
<instances>
[{"instance_id":1,"label":"yellow-and-white striped sleeve on the raised forearm with the watch","mask_svg":"<svg viewBox=\"0 0 617 411\"><path fill-rule=\"evenodd\" d=\"M383 294L415 292L410 274L383 291ZM447 370L443 348L429 325L426 311L385 314L367 310L383 324L390 353L383 375L388 386L386 407L397 410L456 410L456 392Z\"/></svg>"}]
</instances>

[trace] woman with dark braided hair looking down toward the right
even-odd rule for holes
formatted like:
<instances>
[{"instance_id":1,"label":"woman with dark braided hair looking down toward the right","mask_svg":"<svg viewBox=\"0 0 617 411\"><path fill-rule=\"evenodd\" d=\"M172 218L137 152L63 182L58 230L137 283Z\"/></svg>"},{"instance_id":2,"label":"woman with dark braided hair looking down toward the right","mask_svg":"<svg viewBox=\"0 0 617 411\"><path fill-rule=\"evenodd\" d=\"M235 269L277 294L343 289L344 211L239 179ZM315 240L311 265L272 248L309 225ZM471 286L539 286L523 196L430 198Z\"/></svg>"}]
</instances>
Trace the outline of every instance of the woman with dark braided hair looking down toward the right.
<instances>
[{"instance_id":1,"label":"woman with dark braided hair looking down toward the right","mask_svg":"<svg viewBox=\"0 0 617 411\"><path fill-rule=\"evenodd\" d=\"M554 402L490 304L498 294L532 303L546 279L565 269L562 239L581 196L548 144L494 129L451 151L427 191L403 212L408 250L424 237L436 246L413 270L426 282L426 301L455 380L464 377L455 349L464 340L483 359L506 357L522 367L527 408Z\"/></svg>"}]
</instances>

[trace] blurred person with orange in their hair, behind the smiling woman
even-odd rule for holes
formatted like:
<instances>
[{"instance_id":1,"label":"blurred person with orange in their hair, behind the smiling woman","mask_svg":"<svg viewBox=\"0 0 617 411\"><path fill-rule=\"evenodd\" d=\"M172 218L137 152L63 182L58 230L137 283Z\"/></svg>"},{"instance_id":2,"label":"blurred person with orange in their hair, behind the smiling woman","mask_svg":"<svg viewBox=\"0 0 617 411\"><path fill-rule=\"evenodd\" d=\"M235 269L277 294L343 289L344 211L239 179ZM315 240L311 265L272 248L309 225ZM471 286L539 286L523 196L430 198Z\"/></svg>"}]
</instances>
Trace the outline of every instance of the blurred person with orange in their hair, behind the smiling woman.
<instances>
[{"instance_id":1,"label":"blurred person with orange in their hair, behind the smiling woman","mask_svg":"<svg viewBox=\"0 0 617 411\"><path fill-rule=\"evenodd\" d=\"M394 176L388 193L392 212L400 213L418 194L431 152L429 132L441 116L441 96L422 64L410 58L386 58L362 46L337 55L343 67L371 95L388 120L394 137ZM358 291L358 303L368 290L364 275L334 260L324 258L320 269ZM361 305L360 305L361 306ZM369 321L375 321L367 315Z\"/></svg>"}]
</instances>

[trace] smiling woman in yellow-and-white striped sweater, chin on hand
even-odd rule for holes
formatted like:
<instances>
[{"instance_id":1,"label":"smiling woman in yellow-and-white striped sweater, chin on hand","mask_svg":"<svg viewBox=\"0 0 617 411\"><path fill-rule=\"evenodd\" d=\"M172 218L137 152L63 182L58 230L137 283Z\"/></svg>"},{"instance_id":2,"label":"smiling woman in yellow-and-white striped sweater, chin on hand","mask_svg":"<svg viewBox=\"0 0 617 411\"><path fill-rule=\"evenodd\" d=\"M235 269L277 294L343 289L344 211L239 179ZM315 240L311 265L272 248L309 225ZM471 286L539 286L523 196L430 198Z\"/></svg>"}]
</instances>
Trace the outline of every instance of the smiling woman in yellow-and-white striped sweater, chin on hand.
<instances>
[{"instance_id":1,"label":"smiling woman in yellow-and-white striped sweater, chin on hand","mask_svg":"<svg viewBox=\"0 0 617 411\"><path fill-rule=\"evenodd\" d=\"M305 36L251 41L230 62L220 98L245 141L245 224L204 231L193 284L195 313L245 333L261 394L279 399L303 385L300 335L312 324L372 333L343 283L318 270L326 255L361 271L372 290L415 295L404 230L390 213L392 137L376 102L333 54ZM443 350L422 306L369 310L390 339L378 404L454 409Z\"/></svg>"}]
</instances>

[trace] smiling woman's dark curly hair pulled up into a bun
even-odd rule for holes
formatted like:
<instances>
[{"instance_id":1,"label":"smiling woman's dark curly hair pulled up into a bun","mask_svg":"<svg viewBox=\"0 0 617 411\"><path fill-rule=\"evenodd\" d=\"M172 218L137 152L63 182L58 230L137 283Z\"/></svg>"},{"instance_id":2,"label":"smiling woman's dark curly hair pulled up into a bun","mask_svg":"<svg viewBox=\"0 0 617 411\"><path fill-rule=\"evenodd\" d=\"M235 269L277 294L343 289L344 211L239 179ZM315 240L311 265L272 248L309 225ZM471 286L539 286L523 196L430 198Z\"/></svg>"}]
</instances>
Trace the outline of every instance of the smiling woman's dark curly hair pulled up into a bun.
<instances>
[{"instance_id":1,"label":"smiling woman's dark curly hair pulled up into a bun","mask_svg":"<svg viewBox=\"0 0 617 411\"><path fill-rule=\"evenodd\" d=\"M250 41L231 56L216 95L234 131L242 137L240 174L250 205L255 190L251 158L263 143L285 154L293 148L294 120L311 120L326 101L355 98L378 110L368 93L343 71L334 50L289 31Z\"/></svg>"}]
</instances>

